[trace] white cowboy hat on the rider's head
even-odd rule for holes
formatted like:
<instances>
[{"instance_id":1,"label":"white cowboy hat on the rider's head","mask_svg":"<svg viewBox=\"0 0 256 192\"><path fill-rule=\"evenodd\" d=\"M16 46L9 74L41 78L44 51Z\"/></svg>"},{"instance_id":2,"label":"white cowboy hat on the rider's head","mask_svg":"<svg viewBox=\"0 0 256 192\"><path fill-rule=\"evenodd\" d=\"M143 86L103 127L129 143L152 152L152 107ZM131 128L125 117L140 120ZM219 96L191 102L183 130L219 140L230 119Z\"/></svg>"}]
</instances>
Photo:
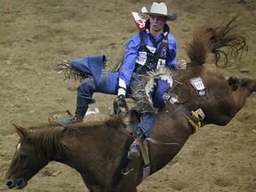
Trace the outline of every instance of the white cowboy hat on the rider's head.
<instances>
[{"instance_id":1,"label":"white cowboy hat on the rider's head","mask_svg":"<svg viewBox=\"0 0 256 192\"><path fill-rule=\"evenodd\" d=\"M165 16L167 17L167 20L176 20L177 14L175 12L171 12L167 14L167 6L164 3L156 3L154 2L151 5L150 12L148 12L147 8L144 6L141 8L141 12L148 14L148 15L156 15L156 16Z\"/></svg>"}]
</instances>

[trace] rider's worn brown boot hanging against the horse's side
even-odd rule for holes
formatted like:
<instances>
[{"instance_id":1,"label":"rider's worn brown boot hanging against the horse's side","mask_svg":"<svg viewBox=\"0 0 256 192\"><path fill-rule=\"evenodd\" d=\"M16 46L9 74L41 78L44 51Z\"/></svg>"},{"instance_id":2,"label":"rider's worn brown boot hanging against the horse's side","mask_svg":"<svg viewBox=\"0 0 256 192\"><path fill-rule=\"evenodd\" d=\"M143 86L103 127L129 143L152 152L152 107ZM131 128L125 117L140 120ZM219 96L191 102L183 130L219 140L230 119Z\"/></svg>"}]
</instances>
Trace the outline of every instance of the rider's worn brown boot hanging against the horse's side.
<instances>
[{"instance_id":1,"label":"rider's worn brown boot hanging against the horse's side","mask_svg":"<svg viewBox=\"0 0 256 192\"><path fill-rule=\"evenodd\" d=\"M146 139L146 135L141 130L139 130L137 132L137 137L135 138L135 140L133 140L129 148L128 155L127 155L128 159L133 160L134 158L137 158L140 156L140 148L145 139Z\"/></svg>"}]
</instances>

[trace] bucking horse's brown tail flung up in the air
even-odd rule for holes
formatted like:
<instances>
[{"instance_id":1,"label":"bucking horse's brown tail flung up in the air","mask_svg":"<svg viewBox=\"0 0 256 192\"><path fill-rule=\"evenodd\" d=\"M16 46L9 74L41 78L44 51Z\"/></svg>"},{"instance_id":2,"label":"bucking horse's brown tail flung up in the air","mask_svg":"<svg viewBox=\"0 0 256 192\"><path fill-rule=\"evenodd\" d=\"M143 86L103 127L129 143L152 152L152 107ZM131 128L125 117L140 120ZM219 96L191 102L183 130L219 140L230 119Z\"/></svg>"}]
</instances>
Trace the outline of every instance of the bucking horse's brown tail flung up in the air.
<instances>
[{"instance_id":1,"label":"bucking horse's brown tail flung up in the air","mask_svg":"<svg viewBox=\"0 0 256 192\"><path fill-rule=\"evenodd\" d=\"M241 33L234 33L236 28L234 21L238 15L233 17L227 24L212 28L204 26L196 29L192 41L187 44L186 51L192 65L202 66L209 53L212 53L217 68L228 68L241 61L244 52L248 47L246 37ZM220 56L224 56L224 63L219 64ZM232 62L229 59L232 58Z\"/></svg>"}]
</instances>

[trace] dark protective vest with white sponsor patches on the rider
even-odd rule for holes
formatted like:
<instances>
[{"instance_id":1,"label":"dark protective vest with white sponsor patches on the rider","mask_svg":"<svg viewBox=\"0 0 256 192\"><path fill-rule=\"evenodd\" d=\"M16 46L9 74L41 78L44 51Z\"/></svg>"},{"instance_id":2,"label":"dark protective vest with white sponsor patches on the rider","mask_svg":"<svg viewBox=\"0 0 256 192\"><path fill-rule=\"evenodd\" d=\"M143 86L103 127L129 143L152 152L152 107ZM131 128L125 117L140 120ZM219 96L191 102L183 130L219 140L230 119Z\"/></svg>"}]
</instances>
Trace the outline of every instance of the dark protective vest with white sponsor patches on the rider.
<instances>
[{"instance_id":1,"label":"dark protective vest with white sponsor patches on the rider","mask_svg":"<svg viewBox=\"0 0 256 192\"><path fill-rule=\"evenodd\" d=\"M162 36L160 41L156 42L155 38L148 33L154 44L154 47L148 47L145 42L146 33L146 31L140 31L140 48L135 65L135 72L139 75L146 75L150 70L164 68L169 52L168 35ZM160 44L158 49L157 44Z\"/></svg>"}]
</instances>

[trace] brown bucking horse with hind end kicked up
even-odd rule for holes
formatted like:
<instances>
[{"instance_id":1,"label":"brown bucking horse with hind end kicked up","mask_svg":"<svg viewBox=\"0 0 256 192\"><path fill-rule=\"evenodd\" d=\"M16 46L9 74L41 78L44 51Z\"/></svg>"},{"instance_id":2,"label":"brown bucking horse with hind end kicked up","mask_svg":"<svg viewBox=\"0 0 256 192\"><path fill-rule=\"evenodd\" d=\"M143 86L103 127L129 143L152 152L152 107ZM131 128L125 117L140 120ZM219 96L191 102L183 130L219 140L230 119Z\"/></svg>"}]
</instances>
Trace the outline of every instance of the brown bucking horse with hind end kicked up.
<instances>
[{"instance_id":1,"label":"brown bucking horse with hind end kicked up","mask_svg":"<svg viewBox=\"0 0 256 192\"><path fill-rule=\"evenodd\" d=\"M174 77L180 84L172 92L180 95L183 108L189 111L201 108L204 111L203 126L228 124L243 108L249 95L256 91L256 79L226 79L217 68L204 66L209 53L215 55L216 66L220 68L230 67L230 57L233 61L240 59L247 47L244 36L233 33L234 20L236 18L218 28L199 28L187 46L190 67ZM220 65L220 55L224 55L223 65ZM189 80L195 77L203 79L206 94L198 95L190 84ZM172 103L166 104L164 111L157 115L156 126L150 135L155 141L148 140L149 174L168 164L193 133L194 129L187 118ZM124 131L122 116L112 116L104 122L66 127L45 124L31 129L17 125L15 128L20 141L6 173L5 184L8 188L26 187L28 180L50 161L68 164L76 169L86 187L93 192L136 192L136 187L142 181L143 158L140 156L129 161L126 157L132 137Z\"/></svg>"}]
</instances>

